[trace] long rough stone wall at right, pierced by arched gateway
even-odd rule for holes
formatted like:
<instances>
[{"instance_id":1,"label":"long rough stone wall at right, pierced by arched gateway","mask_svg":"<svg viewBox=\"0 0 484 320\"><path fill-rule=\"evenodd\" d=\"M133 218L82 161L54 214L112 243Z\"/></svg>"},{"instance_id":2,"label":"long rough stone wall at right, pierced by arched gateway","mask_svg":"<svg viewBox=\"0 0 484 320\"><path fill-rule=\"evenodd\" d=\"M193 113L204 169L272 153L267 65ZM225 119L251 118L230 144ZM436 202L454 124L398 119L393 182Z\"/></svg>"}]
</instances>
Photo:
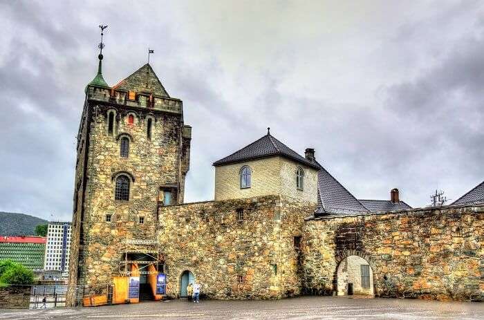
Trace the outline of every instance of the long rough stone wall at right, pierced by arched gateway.
<instances>
[{"instance_id":1,"label":"long rough stone wall at right, pierced by arched gateway","mask_svg":"<svg viewBox=\"0 0 484 320\"><path fill-rule=\"evenodd\" d=\"M484 301L484 206L308 220L304 289L331 294L337 265L365 258L381 297Z\"/></svg>"}]
</instances>

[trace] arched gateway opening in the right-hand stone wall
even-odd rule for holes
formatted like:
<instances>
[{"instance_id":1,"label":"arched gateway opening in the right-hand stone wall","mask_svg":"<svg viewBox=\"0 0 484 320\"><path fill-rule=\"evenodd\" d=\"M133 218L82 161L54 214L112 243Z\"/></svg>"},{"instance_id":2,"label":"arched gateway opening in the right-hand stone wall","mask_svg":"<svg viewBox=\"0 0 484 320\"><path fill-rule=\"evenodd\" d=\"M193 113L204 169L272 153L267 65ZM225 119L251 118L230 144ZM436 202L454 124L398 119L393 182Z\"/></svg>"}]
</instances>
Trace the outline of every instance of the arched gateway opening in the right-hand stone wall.
<instances>
[{"instance_id":1,"label":"arched gateway opening in the right-hand stone wall","mask_svg":"<svg viewBox=\"0 0 484 320\"><path fill-rule=\"evenodd\" d=\"M353 284L354 294L375 294L375 283L378 279L375 266L368 255L359 250L341 250L337 252L335 261L336 268L333 274L333 292L335 294L348 294L348 283ZM361 265L369 265L369 267L365 268ZM368 276L362 277L362 272L367 272Z\"/></svg>"}]
</instances>

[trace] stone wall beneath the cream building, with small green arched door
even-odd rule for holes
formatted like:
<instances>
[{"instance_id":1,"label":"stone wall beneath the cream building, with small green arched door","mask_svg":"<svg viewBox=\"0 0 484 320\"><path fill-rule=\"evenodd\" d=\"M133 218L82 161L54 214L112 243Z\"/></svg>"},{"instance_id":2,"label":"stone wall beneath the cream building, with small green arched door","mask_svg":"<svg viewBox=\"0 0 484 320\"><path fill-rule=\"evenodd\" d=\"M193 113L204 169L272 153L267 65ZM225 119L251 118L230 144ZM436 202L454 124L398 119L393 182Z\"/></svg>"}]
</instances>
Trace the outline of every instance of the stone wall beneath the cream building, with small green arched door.
<instances>
[{"instance_id":1,"label":"stone wall beneath the cream building, with small green arched door","mask_svg":"<svg viewBox=\"0 0 484 320\"><path fill-rule=\"evenodd\" d=\"M180 276L189 270L210 298L298 294L292 232L301 234L305 209L279 196L160 208L158 241L167 265L167 293L179 295ZM238 220L238 210L243 210L243 220Z\"/></svg>"}]
</instances>

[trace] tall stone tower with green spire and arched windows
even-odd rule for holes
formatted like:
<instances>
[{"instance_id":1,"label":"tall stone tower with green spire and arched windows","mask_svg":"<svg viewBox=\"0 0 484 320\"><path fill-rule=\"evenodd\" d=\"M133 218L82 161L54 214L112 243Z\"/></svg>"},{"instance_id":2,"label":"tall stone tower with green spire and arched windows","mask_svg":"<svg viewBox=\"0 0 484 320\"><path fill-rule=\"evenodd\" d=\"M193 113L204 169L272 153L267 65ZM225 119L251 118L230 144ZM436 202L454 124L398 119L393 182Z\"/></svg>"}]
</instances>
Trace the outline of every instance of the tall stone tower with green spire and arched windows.
<instances>
[{"instance_id":1,"label":"tall stone tower with green spire and arched windows","mask_svg":"<svg viewBox=\"0 0 484 320\"><path fill-rule=\"evenodd\" d=\"M169 96L149 64L110 87L99 59L77 135L71 305L75 285L84 297L105 294L113 277L133 270L126 261L150 259L129 256L126 244L133 251L156 240L158 208L183 203L189 170L192 128L183 122L182 101Z\"/></svg>"}]
</instances>

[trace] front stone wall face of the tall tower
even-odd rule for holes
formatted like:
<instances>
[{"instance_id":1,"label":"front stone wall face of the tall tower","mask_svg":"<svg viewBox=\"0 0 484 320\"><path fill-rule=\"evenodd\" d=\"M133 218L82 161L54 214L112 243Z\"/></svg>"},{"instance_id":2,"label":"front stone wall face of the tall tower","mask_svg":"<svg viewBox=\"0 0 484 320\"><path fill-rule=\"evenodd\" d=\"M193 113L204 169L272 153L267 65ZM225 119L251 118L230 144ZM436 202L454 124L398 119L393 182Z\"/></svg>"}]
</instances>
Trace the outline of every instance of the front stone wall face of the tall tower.
<instances>
[{"instance_id":1,"label":"front stone wall face of the tall tower","mask_svg":"<svg viewBox=\"0 0 484 320\"><path fill-rule=\"evenodd\" d=\"M107 132L109 106L92 106L90 122L88 179L84 198L84 243L78 284L85 294L106 292L113 275L119 274L125 239L155 240L160 187L177 185L180 174L180 143L182 122L180 115L116 109L115 132ZM128 115L135 121L128 124ZM152 117L151 140L147 139L146 120ZM129 157L120 157L120 138L129 137ZM189 139L186 140L189 142ZM189 156L189 149L185 149ZM185 162L188 169L188 163ZM185 171L186 173L186 171ZM129 201L115 200L115 178L118 174L132 176ZM184 181L180 181L183 186ZM180 190L183 198L183 190ZM181 199L179 199L181 200ZM111 222L106 222L111 214ZM139 217L144 223L139 223ZM77 274L77 272L75 272Z\"/></svg>"}]
</instances>

